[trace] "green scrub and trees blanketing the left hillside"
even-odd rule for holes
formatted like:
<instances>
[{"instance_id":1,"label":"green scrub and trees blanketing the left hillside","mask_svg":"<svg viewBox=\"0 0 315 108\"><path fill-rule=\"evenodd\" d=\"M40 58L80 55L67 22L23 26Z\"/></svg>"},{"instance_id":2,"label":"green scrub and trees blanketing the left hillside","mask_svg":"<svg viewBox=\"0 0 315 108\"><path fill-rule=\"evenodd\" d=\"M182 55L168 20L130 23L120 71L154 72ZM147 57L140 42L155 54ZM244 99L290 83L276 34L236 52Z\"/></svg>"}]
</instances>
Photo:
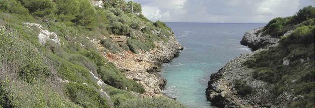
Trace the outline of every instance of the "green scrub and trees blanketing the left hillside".
<instances>
[{"instance_id":1,"label":"green scrub and trees blanketing the left hillside","mask_svg":"<svg viewBox=\"0 0 315 108\"><path fill-rule=\"evenodd\" d=\"M146 19L138 3L103 2L104 7L93 7L90 0L0 0L0 108L107 108L110 101L101 89L114 107L141 100L130 92L144 93L144 88L102 53L148 51L154 42L167 41L172 31ZM39 42L43 32L54 32L59 43L54 34ZM115 43L110 35L126 36L127 42ZM104 49L97 49L92 38ZM98 86L91 73L109 86ZM177 103L145 100L142 105Z\"/></svg>"}]
</instances>

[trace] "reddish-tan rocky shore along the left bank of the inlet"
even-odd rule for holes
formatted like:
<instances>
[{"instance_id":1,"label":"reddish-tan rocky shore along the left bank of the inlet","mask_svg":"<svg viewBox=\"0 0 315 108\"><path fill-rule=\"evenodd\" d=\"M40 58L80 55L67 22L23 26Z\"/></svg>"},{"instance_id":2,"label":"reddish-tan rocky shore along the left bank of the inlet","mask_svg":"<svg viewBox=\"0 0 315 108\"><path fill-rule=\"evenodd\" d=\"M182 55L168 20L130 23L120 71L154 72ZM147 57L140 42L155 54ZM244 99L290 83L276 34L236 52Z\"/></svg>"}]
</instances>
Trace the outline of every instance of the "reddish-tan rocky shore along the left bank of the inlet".
<instances>
[{"instance_id":1,"label":"reddish-tan rocky shore along the left bank of the inlet","mask_svg":"<svg viewBox=\"0 0 315 108\"><path fill-rule=\"evenodd\" d=\"M167 83L157 72L161 71L161 65L171 62L177 57L182 45L177 42L174 36L166 41L155 42L156 48L150 51L141 51L139 54L124 52L120 54L103 54L109 61L118 68L126 70L126 78L132 79L144 87L144 97L162 95ZM101 45L98 45L101 49ZM127 88L126 88L127 89Z\"/></svg>"}]
</instances>

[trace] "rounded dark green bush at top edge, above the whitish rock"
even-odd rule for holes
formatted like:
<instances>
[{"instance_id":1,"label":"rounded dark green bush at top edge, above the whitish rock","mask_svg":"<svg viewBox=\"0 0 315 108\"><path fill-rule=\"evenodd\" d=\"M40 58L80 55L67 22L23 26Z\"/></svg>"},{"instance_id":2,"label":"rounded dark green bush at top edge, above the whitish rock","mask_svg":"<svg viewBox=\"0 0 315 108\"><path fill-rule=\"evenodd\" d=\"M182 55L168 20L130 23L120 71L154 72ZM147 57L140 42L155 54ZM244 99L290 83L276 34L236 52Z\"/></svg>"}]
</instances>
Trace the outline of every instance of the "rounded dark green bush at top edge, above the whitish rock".
<instances>
[{"instance_id":1,"label":"rounded dark green bush at top edge, above the whitish rock","mask_svg":"<svg viewBox=\"0 0 315 108\"><path fill-rule=\"evenodd\" d=\"M45 17L56 11L55 3L52 0L18 0L29 10L31 14L38 17Z\"/></svg>"}]
</instances>

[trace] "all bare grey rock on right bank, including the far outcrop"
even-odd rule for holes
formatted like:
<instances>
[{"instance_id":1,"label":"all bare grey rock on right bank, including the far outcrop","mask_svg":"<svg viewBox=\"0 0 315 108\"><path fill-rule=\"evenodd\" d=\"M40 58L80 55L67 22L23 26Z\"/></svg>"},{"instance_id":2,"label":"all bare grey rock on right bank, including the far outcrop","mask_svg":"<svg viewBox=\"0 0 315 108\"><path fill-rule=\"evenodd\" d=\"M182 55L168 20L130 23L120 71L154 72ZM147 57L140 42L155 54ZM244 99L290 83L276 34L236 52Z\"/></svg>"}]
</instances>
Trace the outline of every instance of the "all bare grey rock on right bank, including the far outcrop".
<instances>
[{"instance_id":1,"label":"all bare grey rock on right bank, including the far outcrop","mask_svg":"<svg viewBox=\"0 0 315 108\"><path fill-rule=\"evenodd\" d=\"M252 48L251 53L229 61L217 73L211 74L206 89L207 100L212 105L220 108L274 108L274 95L270 93L273 84L252 78L253 69L244 66L249 58L263 50L277 46L279 38L270 35L262 35L263 28L257 28L245 33L241 44ZM291 31L284 35L289 35ZM252 92L246 96L237 95L235 89L236 80L246 81L246 85L252 88ZM285 103L283 103L285 104ZM279 105L279 103L278 103ZM278 106L279 107L279 106Z\"/></svg>"}]
</instances>

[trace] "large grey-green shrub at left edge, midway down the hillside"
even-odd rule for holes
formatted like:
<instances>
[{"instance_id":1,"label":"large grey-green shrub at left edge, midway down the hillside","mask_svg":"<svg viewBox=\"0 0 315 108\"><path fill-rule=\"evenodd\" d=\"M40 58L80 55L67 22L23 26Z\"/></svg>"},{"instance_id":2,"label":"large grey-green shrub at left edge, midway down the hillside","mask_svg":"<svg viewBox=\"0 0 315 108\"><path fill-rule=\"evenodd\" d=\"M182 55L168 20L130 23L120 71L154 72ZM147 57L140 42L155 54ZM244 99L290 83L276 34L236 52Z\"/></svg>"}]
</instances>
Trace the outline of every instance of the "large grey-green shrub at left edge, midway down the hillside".
<instances>
[{"instance_id":1,"label":"large grey-green shrub at left edge, midway down the hillside","mask_svg":"<svg viewBox=\"0 0 315 108\"><path fill-rule=\"evenodd\" d=\"M34 45L2 30L0 30L0 40L0 58L5 58L5 61L15 61L22 79L32 82L38 77L49 75L43 56Z\"/></svg>"}]
</instances>

